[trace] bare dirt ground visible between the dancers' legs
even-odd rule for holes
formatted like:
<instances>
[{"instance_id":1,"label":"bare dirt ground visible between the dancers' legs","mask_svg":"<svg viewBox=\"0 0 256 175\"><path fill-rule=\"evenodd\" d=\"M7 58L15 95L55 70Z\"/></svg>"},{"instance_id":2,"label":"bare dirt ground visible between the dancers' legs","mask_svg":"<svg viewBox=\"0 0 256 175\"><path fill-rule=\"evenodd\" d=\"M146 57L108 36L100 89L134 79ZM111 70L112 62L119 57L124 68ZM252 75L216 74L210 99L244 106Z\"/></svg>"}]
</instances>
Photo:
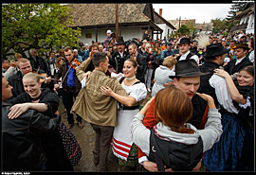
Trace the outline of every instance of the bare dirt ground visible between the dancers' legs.
<instances>
[{"instance_id":1,"label":"bare dirt ground visible between the dancers' legs","mask_svg":"<svg viewBox=\"0 0 256 175\"><path fill-rule=\"evenodd\" d=\"M148 96L143 100L142 106L150 99L151 93L148 93ZM60 99L59 112L62 116L64 124L67 125L67 116L64 112L64 105L62 99ZM75 117L74 117L75 118ZM95 142L95 131L93 131L91 125L84 121L84 127L80 129L75 121L75 125L72 127L71 131L76 136L78 143L82 149L82 158L79 165L74 167L76 172L92 172L96 171L96 166L93 163L93 153L94 142ZM117 157L113 154L112 149L109 149L108 154L108 171L130 171L129 167L119 166ZM137 165L136 171L140 171L141 166Z\"/></svg>"}]
</instances>

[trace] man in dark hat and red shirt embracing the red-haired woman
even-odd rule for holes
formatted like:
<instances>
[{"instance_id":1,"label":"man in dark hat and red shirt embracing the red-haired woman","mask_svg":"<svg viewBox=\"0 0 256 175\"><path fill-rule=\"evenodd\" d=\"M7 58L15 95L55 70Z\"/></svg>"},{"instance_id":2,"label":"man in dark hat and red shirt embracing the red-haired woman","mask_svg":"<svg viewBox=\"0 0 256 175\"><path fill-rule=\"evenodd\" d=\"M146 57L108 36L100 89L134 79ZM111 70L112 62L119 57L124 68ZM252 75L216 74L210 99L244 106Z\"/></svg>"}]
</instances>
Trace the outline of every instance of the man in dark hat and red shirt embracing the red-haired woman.
<instances>
[{"instance_id":1,"label":"man in dark hat and red shirt embracing the red-haired woman","mask_svg":"<svg viewBox=\"0 0 256 175\"><path fill-rule=\"evenodd\" d=\"M203 129L207 122L209 107L206 100L196 95L196 91L200 85L200 76L208 73L200 72L197 63L194 60L178 61L175 64L175 76L170 76L174 79L174 86L192 99L192 117L188 121L196 129ZM170 99L172 100L172 99ZM152 129L156 123L154 115L155 99L152 101L147 114L144 117L143 125L147 129ZM149 171L157 171L155 163L149 162L145 154L138 149L138 163L143 165Z\"/></svg>"}]
</instances>

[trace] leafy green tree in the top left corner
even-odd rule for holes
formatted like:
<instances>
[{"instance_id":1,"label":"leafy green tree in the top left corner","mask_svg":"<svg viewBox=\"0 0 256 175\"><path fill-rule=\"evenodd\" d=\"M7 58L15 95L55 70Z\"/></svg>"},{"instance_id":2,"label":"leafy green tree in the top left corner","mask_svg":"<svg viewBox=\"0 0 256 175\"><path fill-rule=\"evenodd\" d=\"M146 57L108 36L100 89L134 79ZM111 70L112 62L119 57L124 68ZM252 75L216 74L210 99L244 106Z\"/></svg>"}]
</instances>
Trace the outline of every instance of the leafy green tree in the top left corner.
<instances>
[{"instance_id":1,"label":"leafy green tree in the top left corner","mask_svg":"<svg viewBox=\"0 0 256 175\"><path fill-rule=\"evenodd\" d=\"M77 46L80 28L71 28L68 8L60 4L2 5L2 58L36 48L40 55L63 45Z\"/></svg>"}]
</instances>

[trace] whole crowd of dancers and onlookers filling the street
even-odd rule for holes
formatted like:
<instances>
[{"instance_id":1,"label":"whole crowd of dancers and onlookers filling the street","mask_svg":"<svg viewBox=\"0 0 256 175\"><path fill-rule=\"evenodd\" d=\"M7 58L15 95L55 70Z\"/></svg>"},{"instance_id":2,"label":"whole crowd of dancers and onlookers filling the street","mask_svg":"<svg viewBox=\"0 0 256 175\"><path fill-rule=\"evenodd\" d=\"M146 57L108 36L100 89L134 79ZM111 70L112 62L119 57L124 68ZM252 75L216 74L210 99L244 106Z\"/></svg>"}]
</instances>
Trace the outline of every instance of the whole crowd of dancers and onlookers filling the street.
<instances>
[{"instance_id":1,"label":"whole crowd of dancers and onlookers filling the street","mask_svg":"<svg viewBox=\"0 0 256 175\"><path fill-rule=\"evenodd\" d=\"M131 171L255 170L254 35L207 35L205 46L200 36L106 35L46 59L31 48L2 60L3 170L74 170L59 98L67 130L76 119L95 131L97 171L110 148Z\"/></svg>"}]
</instances>

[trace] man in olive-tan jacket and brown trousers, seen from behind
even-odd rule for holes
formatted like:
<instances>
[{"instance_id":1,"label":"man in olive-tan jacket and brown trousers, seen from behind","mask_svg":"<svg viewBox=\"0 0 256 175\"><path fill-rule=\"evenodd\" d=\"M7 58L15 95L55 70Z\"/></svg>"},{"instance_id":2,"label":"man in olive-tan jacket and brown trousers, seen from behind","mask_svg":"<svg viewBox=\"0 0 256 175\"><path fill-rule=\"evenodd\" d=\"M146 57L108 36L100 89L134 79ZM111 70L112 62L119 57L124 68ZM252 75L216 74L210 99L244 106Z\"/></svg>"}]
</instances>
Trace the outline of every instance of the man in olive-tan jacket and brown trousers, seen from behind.
<instances>
[{"instance_id":1,"label":"man in olive-tan jacket and brown trousers, seen from behind","mask_svg":"<svg viewBox=\"0 0 256 175\"><path fill-rule=\"evenodd\" d=\"M85 77L85 69L93 62L95 69L90 77L86 79L85 87L82 88L72 107L71 112L79 114L84 120L89 122L96 132L94 163L97 171L106 171L107 156L113 136L113 131L117 125L118 102L112 96L104 96L101 93L101 86L110 87L113 92L120 96L128 96L116 78L105 75L108 68L107 54L97 52L76 68L77 77L82 81Z\"/></svg>"}]
</instances>

